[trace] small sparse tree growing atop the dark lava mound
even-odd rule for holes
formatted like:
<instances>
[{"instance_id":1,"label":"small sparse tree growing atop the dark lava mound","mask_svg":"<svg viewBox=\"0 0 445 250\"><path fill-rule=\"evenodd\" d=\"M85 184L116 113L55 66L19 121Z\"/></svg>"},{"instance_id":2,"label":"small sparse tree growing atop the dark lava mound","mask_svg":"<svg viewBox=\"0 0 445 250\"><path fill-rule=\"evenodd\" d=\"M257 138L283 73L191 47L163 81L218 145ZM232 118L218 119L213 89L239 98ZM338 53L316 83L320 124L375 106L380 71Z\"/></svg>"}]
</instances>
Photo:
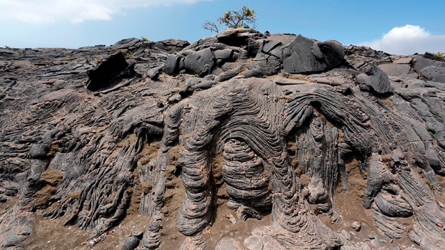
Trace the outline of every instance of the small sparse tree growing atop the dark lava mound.
<instances>
[{"instance_id":1,"label":"small sparse tree growing atop the dark lava mound","mask_svg":"<svg viewBox=\"0 0 445 250\"><path fill-rule=\"evenodd\" d=\"M229 10L222 17L218 17L215 21L206 21L202 24L205 28L212 32L220 32L220 25L223 24L227 28L255 28L257 27L257 13L254 9L243 6L241 10ZM250 24L252 27L250 27Z\"/></svg>"}]
</instances>

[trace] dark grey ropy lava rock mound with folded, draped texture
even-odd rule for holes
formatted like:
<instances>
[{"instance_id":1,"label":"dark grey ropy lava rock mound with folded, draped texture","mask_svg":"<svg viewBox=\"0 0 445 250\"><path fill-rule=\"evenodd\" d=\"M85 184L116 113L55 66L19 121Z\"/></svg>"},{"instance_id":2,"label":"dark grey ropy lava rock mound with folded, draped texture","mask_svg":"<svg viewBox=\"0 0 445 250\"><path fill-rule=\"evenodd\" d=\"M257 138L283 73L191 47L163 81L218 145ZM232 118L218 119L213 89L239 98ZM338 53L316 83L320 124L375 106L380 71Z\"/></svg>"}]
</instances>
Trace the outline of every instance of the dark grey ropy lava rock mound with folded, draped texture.
<instances>
[{"instance_id":1,"label":"dark grey ropy lava rock mound with folded, draped texture","mask_svg":"<svg viewBox=\"0 0 445 250\"><path fill-rule=\"evenodd\" d=\"M35 213L101 235L138 199L147 226L122 249L165 248L164 196L181 178L170 211L181 249L371 249L407 238L441 249L444 73L439 58L251 29L192 44L0 49L0 246L33 233ZM341 223L336 194L354 188L352 161L367 185L351 206L371 210L386 240L323 223ZM244 239L208 237L218 204L238 215L232 223L270 223Z\"/></svg>"}]
</instances>

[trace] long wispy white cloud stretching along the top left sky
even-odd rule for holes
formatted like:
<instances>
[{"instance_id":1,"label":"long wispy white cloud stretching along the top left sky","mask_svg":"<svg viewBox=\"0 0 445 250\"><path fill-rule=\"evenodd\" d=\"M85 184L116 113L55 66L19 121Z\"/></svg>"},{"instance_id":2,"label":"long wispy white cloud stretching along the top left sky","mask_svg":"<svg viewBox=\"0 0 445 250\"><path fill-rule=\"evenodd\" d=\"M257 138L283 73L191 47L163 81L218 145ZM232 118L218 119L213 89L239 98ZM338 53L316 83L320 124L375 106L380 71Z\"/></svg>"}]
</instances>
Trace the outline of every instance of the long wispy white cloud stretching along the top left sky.
<instances>
[{"instance_id":1,"label":"long wispy white cloud stretching along the top left sky","mask_svg":"<svg viewBox=\"0 0 445 250\"><path fill-rule=\"evenodd\" d=\"M0 0L0 21L45 24L109 20L125 9L205 0Z\"/></svg>"}]
</instances>

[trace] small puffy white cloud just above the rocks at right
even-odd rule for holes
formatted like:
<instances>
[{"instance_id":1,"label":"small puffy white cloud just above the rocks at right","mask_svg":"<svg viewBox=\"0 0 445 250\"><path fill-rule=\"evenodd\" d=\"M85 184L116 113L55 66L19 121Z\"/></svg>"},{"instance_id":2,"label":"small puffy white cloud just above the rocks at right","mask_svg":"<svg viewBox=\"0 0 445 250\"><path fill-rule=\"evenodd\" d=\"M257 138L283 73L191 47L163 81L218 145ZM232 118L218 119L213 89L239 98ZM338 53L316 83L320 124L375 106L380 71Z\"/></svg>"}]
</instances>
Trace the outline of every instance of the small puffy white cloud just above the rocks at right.
<instances>
[{"instance_id":1,"label":"small puffy white cloud just above the rocks at right","mask_svg":"<svg viewBox=\"0 0 445 250\"><path fill-rule=\"evenodd\" d=\"M379 40L362 42L376 50L397 55L413 53L445 52L445 35L433 35L421 26L407 24L391 29Z\"/></svg>"}]
</instances>

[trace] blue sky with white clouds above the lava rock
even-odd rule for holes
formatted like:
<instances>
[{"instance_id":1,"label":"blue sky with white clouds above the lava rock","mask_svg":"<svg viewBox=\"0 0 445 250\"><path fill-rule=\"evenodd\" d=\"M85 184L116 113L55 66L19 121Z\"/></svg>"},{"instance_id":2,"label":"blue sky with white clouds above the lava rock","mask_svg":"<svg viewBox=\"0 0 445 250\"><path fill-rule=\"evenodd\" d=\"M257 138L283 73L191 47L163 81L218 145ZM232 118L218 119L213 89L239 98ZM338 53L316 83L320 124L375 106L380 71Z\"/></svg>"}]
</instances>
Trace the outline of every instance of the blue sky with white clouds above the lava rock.
<instances>
[{"instance_id":1,"label":"blue sky with white clouds above the lava rock","mask_svg":"<svg viewBox=\"0 0 445 250\"><path fill-rule=\"evenodd\" d=\"M367 45L389 53L445 52L443 0L0 0L0 47L111 45L124 38L193 42L202 22L247 5L257 30Z\"/></svg>"}]
</instances>

